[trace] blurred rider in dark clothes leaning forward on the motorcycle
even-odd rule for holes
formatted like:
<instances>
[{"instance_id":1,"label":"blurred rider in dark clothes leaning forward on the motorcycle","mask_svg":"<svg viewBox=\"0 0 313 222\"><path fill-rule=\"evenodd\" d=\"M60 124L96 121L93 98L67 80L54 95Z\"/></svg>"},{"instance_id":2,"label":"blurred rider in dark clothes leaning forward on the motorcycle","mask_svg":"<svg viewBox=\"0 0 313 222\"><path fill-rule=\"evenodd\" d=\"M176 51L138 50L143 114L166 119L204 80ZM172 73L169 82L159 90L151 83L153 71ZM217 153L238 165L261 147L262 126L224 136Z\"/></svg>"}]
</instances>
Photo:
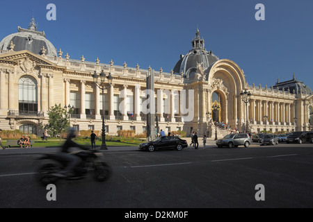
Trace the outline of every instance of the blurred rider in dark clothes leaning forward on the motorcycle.
<instances>
[{"instance_id":1,"label":"blurred rider in dark clothes leaning forward on the motorcycle","mask_svg":"<svg viewBox=\"0 0 313 222\"><path fill-rule=\"evenodd\" d=\"M58 177L71 177L74 176L74 169L75 167L79 166L81 164L81 158L77 155L73 155L70 153L70 148L81 148L83 150L88 150L86 146L82 146L80 144L77 144L72 139L77 136L77 130L75 128L70 128L67 139L63 146L61 147L61 153L59 153L58 157L60 160L67 162L67 165L65 166L65 169L63 171L60 171L58 173L53 173L54 176Z\"/></svg>"}]
</instances>

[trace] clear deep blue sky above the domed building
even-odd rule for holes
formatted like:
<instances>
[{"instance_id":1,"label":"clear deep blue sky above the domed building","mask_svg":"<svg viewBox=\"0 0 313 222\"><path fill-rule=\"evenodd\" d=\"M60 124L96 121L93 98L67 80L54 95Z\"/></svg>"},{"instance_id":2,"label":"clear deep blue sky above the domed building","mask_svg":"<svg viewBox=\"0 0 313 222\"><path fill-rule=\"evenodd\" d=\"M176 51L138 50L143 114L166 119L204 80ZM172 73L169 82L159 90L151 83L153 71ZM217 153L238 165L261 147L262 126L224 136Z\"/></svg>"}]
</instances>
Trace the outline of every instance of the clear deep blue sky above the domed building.
<instances>
[{"instance_id":1,"label":"clear deep blue sky above the domed building","mask_svg":"<svg viewBox=\"0 0 313 222\"><path fill-rule=\"evenodd\" d=\"M46 18L48 3L56 21ZM264 21L255 19L257 3ZM2 0L0 39L27 28L33 13L63 56L170 72L198 26L205 48L236 62L249 85L269 87L295 73L313 89L312 8L312 0Z\"/></svg>"}]
</instances>

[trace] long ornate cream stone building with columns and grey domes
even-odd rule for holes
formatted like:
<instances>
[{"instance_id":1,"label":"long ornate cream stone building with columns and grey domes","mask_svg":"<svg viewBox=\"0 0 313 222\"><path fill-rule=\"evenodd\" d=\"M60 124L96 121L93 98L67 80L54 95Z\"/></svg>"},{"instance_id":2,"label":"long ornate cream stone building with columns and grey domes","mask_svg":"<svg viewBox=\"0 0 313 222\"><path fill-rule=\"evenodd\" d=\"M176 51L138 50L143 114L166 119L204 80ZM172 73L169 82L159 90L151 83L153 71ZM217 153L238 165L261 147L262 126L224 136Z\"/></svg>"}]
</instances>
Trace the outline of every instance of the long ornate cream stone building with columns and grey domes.
<instances>
[{"instance_id":1,"label":"long ornate cream stone building with columns and grey domes","mask_svg":"<svg viewBox=\"0 0 313 222\"><path fill-rule=\"evenodd\" d=\"M88 62L83 56L81 60L70 59L37 30L34 19L28 29L18 27L18 31L0 42L0 128L39 134L48 121L49 108L61 103L73 108L72 126L101 130L104 103L109 135L118 130L136 130L137 134L146 130L146 116L141 111L150 67L127 67L126 62L114 65L112 60L109 64L98 59ZM239 65L204 48L199 31L191 44L192 49L180 56L170 73L154 71L160 129L211 135L213 121L245 130L247 119L252 132L311 129L313 93L302 82L293 78L271 87L248 85ZM93 83L94 71L99 74L102 70L113 76L113 84L104 91L104 101ZM186 100L191 99L188 107L193 107L190 121L185 121L182 112L184 89ZM188 98L191 89L193 98ZM252 94L247 107L240 95L245 90ZM220 110L212 110L212 105Z\"/></svg>"}]
</instances>

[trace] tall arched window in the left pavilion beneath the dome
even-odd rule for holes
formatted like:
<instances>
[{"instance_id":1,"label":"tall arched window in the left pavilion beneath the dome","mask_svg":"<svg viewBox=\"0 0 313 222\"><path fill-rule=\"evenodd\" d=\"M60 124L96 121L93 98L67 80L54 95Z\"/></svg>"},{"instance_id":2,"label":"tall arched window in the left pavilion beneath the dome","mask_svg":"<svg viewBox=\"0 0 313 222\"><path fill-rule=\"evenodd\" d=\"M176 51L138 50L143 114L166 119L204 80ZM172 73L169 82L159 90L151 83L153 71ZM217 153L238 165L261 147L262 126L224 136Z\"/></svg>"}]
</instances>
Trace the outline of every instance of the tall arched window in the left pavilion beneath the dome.
<instances>
[{"instance_id":1,"label":"tall arched window in the left pavilion beneath the dome","mask_svg":"<svg viewBox=\"0 0 313 222\"><path fill-rule=\"evenodd\" d=\"M32 76L19 79L19 115L38 114L37 80Z\"/></svg>"}]
</instances>

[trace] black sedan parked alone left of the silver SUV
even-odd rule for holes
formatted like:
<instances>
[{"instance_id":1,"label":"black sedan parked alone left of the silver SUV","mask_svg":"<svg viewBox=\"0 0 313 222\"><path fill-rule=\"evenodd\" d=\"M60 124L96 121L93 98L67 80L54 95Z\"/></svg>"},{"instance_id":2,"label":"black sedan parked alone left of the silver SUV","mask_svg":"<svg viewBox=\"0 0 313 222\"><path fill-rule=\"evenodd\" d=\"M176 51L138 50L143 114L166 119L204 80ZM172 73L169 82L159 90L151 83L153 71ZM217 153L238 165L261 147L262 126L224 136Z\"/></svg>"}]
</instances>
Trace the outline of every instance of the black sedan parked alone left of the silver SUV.
<instances>
[{"instance_id":1,"label":"black sedan parked alone left of the silver SUV","mask_svg":"<svg viewBox=\"0 0 313 222\"><path fill-rule=\"evenodd\" d=\"M179 137L157 137L150 142L144 142L139 145L139 149L153 152L155 150L163 148L176 148L177 151L181 151L182 148L186 148L188 143L184 139Z\"/></svg>"}]
</instances>

